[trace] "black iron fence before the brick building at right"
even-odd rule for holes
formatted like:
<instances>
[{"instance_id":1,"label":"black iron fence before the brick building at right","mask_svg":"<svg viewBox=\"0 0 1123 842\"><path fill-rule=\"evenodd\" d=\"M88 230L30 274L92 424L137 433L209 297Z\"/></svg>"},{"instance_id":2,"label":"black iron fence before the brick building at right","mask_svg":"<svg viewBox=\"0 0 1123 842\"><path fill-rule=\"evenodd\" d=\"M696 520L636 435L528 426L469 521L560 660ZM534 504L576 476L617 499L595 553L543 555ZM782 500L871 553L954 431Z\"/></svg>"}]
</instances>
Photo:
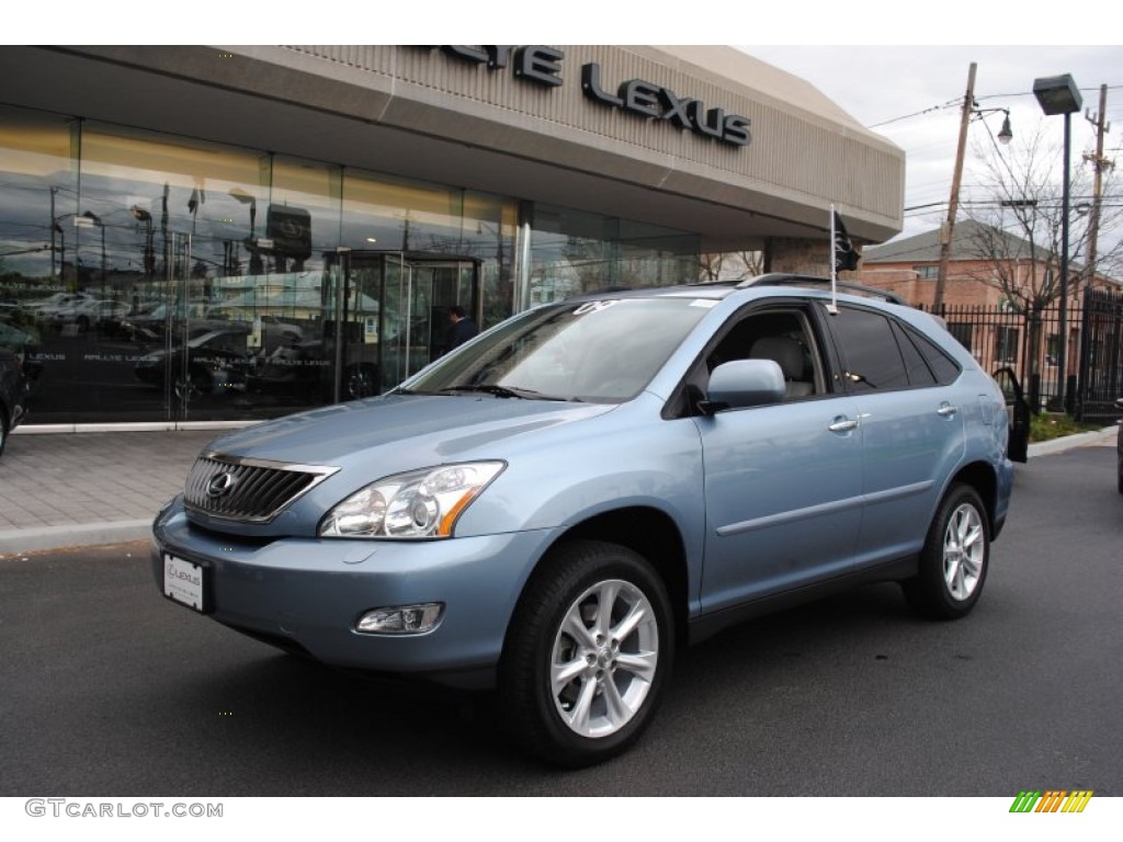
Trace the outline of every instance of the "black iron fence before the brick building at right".
<instances>
[{"instance_id":1,"label":"black iron fence before the brick building at right","mask_svg":"<svg viewBox=\"0 0 1123 842\"><path fill-rule=\"evenodd\" d=\"M938 314L986 370L1014 370L1033 412L1063 410L1093 423L1117 418L1114 402L1123 397L1123 292L1086 290L1080 304L1069 309L1063 388L1056 308L1025 313L1005 305L946 305Z\"/></svg>"}]
</instances>

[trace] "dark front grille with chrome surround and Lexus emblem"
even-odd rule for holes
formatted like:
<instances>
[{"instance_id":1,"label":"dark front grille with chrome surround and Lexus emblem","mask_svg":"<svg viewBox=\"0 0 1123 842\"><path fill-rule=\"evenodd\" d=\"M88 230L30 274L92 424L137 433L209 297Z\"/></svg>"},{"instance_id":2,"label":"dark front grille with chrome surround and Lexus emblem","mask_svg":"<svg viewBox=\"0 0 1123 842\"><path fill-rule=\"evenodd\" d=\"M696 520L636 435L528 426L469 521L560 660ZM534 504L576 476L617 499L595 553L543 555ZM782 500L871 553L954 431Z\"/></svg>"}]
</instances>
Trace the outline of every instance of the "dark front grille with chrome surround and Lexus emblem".
<instances>
[{"instance_id":1,"label":"dark front grille with chrome surround and Lexus emblem","mask_svg":"<svg viewBox=\"0 0 1123 842\"><path fill-rule=\"evenodd\" d=\"M207 452L191 467L183 500L212 518L267 523L337 470Z\"/></svg>"}]
</instances>

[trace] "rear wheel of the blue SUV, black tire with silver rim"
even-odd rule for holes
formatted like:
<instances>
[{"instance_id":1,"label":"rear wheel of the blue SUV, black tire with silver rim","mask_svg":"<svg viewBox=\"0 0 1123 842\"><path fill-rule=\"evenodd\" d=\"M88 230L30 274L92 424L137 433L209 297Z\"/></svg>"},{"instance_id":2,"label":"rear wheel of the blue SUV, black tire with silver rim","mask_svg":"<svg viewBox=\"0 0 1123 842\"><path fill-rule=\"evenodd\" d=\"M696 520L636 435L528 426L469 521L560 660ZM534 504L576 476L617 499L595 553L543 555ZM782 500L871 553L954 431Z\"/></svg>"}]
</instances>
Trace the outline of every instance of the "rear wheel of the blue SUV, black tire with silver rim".
<instances>
[{"instance_id":1,"label":"rear wheel of the blue SUV, black tire with silver rim","mask_svg":"<svg viewBox=\"0 0 1123 842\"><path fill-rule=\"evenodd\" d=\"M929 527L916 576L902 587L917 613L956 620L975 607L989 564L986 506L969 485L952 485Z\"/></svg>"}]
</instances>

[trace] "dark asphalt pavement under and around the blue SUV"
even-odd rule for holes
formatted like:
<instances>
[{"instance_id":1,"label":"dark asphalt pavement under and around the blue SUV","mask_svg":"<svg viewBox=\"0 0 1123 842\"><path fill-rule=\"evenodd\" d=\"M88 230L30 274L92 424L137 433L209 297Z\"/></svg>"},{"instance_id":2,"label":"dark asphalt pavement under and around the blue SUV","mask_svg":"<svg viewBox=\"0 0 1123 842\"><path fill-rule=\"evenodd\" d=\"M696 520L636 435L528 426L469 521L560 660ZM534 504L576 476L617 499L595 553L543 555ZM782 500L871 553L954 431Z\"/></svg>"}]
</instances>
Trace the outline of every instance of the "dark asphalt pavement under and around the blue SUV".
<instances>
[{"instance_id":1,"label":"dark asphalt pavement under and around the blue SUV","mask_svg":"<svg viewBox=\"0 0 1123 842\"><path fill-rule=\"evenodd\" d=\"M919 620L886 584L730 630L679 655L634 750L575 772L510 748L486 696L168 603L144 542L7 556L0 795L1117 796L1121 510L1111 447L1035 458L969 617Z\"/></svg>"}]
</instances>

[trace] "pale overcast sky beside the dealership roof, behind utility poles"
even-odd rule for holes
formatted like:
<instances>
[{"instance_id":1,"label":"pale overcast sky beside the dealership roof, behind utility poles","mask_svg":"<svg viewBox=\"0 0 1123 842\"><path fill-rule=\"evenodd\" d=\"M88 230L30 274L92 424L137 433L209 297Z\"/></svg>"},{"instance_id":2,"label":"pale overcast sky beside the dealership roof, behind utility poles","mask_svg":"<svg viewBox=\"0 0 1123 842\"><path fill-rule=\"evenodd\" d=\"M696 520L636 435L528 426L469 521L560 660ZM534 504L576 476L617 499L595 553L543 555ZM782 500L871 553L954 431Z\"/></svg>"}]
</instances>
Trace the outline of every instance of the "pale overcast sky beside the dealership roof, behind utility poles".
<instances>
[{"instance_id":1,"label":"pale overcast sky beside the dealership roof, behind utility poles","mask_svg":"<svg viewBox=\"0 0 1123 842\"><path fill-rule=\"evenodd\" d=\"M971 62L978 65L975 99L979 109L1010 109L1015 138L1040 128L1061 145L1063 119L1041 113L1032 93L1033 80L1070 73L1085 108L1093 113L1099 110L1099 86L1108 86L1105 113L1113 127L1104 155L1117 157L1123 145L1123 46L738 46L811 82L860 123L905 150L903 236L935 228L947 217ZM973 167L978 161L976 148L994 148L987 128L997 135L1003 115L983 119L986 126L976 120L969 128L964 196L978 183L978 168ZM1095 131L1083 113L1072 116L1071 131L1071 165L1076 167L1083 152L1095 150ZM932 204L938 207L923 208Z\"/></svg>"}]
</instances>

